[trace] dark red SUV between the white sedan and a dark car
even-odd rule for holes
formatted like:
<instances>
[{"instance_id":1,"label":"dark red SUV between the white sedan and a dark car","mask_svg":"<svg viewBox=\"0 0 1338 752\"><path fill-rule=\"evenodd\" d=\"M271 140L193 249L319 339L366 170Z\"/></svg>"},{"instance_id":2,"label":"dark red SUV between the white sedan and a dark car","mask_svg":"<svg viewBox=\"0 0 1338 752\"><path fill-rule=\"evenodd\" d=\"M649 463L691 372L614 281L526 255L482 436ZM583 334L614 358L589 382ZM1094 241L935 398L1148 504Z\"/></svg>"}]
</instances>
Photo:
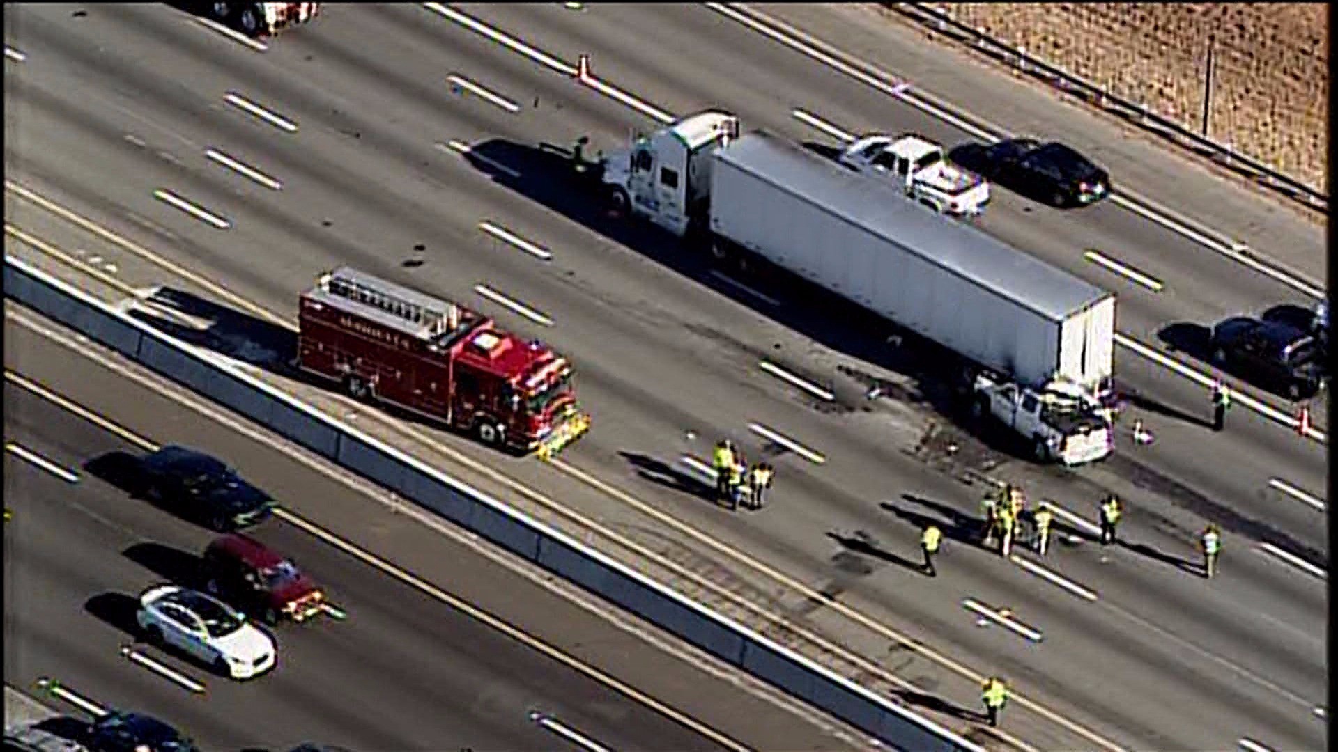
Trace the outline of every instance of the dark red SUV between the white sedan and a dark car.
<instances>
[{"instance_id":1,"label":"dark red SUV between the white sedan and a dark car","mask_svg":"<svg viewBox=\"0 0 1338 752\"><path fill-rule=\"evenodd\" d=\"M266 624L302 622L325 607L325 593L260 541L234 533L205 549L205 590Z\"/></svg>"}]
</instances>

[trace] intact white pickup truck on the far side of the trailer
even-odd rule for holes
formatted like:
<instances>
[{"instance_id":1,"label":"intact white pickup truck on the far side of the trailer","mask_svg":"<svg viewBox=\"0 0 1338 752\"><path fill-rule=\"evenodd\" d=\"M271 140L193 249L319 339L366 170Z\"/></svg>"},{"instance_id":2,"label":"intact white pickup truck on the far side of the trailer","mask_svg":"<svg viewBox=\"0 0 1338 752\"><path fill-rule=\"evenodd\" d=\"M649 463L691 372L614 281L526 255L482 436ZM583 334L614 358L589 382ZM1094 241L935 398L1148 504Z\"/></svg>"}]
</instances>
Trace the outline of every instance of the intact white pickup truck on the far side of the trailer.
<instances>
[{"instance_id":1,"label":"intact white pickup truck on the far side of the trailer","mask_svg":"<svg viewBox=\"0 0 1338 752\"><path fill-rule=\"evenodd\" d=\"M943 147L923 136L866 135L838 161L856 173L891 179L943 214L981 214L990 202L990 185L983 178L949 162Z\"/></svg>"}]
</instances>

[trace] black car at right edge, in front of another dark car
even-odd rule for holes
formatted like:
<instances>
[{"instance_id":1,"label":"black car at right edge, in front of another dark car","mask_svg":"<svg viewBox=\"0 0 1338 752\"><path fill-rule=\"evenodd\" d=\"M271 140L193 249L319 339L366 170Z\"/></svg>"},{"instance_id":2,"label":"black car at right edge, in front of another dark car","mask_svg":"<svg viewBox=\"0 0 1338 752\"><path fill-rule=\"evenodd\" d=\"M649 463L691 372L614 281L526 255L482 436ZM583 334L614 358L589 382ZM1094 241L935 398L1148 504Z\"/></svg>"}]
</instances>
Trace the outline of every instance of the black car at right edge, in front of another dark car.
<instances>
[{"instance_id":1,"label":"black car at right edge, in front of another dark car","mask_svg":"<svg viewBox=\"0 0 1338 752\"><path fill-rule=\"evenodd\" d=\"M1319 391L1319 343L1310 333L1258 318L1228 318L1212 328L1212 357L1223 368L1293 400Z\"/></svg>"}]
</instances>

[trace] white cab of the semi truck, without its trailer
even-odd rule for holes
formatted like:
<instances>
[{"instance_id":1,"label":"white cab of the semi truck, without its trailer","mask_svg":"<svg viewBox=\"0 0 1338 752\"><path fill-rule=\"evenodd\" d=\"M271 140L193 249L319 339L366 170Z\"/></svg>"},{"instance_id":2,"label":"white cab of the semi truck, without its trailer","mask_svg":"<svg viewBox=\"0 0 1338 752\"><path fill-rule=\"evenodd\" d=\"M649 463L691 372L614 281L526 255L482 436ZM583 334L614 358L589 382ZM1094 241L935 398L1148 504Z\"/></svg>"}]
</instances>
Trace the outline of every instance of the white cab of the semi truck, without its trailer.
<instances>
[{"instance_id":1,"label":"white cab of the semi truck, without its trailer","mask_svg":"<svg viewBox=\"0 0 1338 752\"><path fill-rule=\"evenodd\" d=\"M739 138L739 118L721 111L689 115L632 149L605 157L603 189L619 215L637 215L676 236L705 218L710 154Z\"/></svg>"}]
</instances>

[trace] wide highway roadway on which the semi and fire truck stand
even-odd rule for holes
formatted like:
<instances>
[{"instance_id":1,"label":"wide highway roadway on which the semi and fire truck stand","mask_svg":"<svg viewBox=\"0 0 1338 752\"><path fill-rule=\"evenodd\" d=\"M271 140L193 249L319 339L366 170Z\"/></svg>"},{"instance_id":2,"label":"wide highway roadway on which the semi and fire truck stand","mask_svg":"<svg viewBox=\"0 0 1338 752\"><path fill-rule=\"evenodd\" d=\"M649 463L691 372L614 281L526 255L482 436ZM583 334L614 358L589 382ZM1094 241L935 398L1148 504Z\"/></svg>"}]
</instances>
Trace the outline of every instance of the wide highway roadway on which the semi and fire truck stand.
<instances>
[{"instance_id":1,"label":"wide highway roadway on which the semi and fire truck stand","mask_svg":"<svg viewBox=\"0 0 1338 752\"><path fill-rule=\"evenodd\" d=\"M590 54L595 75L669 112L723 106L747 126L827 145L832 136L795 118L795 108L847 131L914 128L950 145L967 138L706 8L463 9L566 63ZM880 658L887 673L938 698L941 711L946 704L958 725L969 724L965 708L977 702L969 672L894 645L888 656L895 640L854 628L844 609L925 641L958 666L1002 673L1020 694L1034 696L1042 711L1010 708L1001 736L1008 743L1226 748L1250 736L1279 748L1323 744L1311 713L1326 685L1318 641L1323 583L1258 547L1268 541L1327 566L1322 515L1270 486L1280 479L1322 498L1321 443L1243 407L1224 435L1211 435L1196 424L1208 413L1202 384L1121 349L1117 373L1144 400L1136 413L1157 436L1152 447L1125 440L1119 458L1076 474L982 447L914 404L922 389L913 376L866 361L886 348L859 332L858 318L824 322L792 294L740 289L654 233L610 225L524 149L566 146L581 134L613 147L653 119L420 7L334 7L317 24L273 40L264 55L159 7L106 7L79 19L60 5L7 12L20 21L7 44L27 55L5 68L7 102L15 103L8 111L17 111L7 115L8 179L135 238L166 262L151 265L71 230L7 190L13 225L103 269L115 264L115 276L131 286L169 284L219 300L209 282L221 282L281 318L292 317L296 294L317 272L351 262L542 336L573 356L595 415L595 430L562 463L503 460L425 427L417 435L475 464L500 466L723 587ZM685 44L693 55L682 55ZM459 84L452 92L451 75L511 106ZM297 130L244 112L225 100L229 92ZM474 146L472 161L460 157L460 145ZM227 171L209 150L280 178L282 190ZM1120 169L1111 166L1119 181ZM227 218L229 229L155 199L162 189ZM480 231L483 221L542 245L553 260ZM1145 347L1157 347L1168 324L1299 300L1286 284L1113 203L1060 213L997 191L982 226L1115 289L1120 329ZM1263 237L1301 238L1284 245L1313 248L1322 258L1322 240L1306 230L1280 234L1260 223L1240 237L1251 240L1259 227ZM7 253L20 245L7 237ZM1164 286L1124 282L1085 261L1089 249ZM186 273L198 274L197 282L183 281ZM543 312L553 325L480 298L479 284ZM248 337L241 329L227 335ZM759 371L763 356L834 380L839 405L816 409ZM894 399L863 400L867 383L840 376L842 367L891 381ZM1321 426L1322 412L1315 408ZM780 456L775 506L731 516L690 492L693 480L682 478L690 470L676 459L705 458L724 434L756 455L763 443L749 423L792 436L826 462ZM949 455L949 446L958 451ZM1098 602L1086 603L966 543L950 546L930 581L895 559L844 553L831 538L863 533L884 554L915 558L918 515L975 514L979 486L958 480L967 471L1022 482L1033 498L1061 500L1088 519L1103 492L1119 492L1129 508L1123 533L1151 549L1096 551L1084 542L1057 551L1046 566L1098 591ZM706 535L670 534L656 511ZM1228 534L1230 575L1211 585L1156 558L1192 558L1204 518ZM835 593L839 603L805 606L793 587L777 589L757 567L719 561L721 547ZM1012 609L1044 632L1044 645L975 626L965 598Z\"/></svg>"}]
</instances>

